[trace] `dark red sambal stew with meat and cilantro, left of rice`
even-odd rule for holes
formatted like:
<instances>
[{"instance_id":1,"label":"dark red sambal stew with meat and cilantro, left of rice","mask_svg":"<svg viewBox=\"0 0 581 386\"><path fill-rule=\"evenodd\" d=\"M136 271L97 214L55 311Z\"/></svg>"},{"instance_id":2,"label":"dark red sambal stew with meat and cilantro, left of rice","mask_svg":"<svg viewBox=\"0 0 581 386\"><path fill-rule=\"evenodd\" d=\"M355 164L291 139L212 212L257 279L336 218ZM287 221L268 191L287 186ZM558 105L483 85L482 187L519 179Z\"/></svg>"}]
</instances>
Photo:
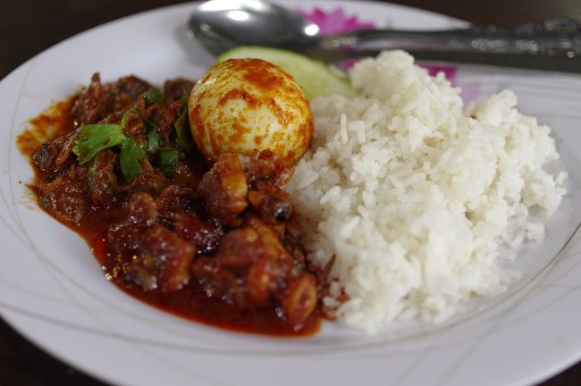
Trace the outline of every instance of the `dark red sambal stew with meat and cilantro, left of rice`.
<instances>
[{"instance_id":1,"label":"dark red sambal stew with meat and cilantro, left of rice","mask_svg":"<svg viewBox=\"0 0 581 386\"><path fill-rule=\"evenodd\" d=\"M235 331L313 334L320 286L293 231L291 170L269 151L207 164L189 138L192 87L95 74L31 120L18 146L38 206L149 305Z\"/></svg>"}]
</instances>

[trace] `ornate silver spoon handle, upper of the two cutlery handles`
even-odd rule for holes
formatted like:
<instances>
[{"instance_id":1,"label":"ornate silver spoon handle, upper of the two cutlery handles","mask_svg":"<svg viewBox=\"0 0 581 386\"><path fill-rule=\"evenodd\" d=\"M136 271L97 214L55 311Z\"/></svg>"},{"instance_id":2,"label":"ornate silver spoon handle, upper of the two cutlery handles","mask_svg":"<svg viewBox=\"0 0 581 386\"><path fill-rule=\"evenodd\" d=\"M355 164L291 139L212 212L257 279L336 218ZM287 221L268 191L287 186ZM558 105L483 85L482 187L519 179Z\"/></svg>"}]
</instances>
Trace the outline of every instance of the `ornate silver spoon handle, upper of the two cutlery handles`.
<instances>
[{"instance_id":1,"label":"ornate silver spoon handle, upper of the two cutlery handles","mask_svg":"<svg viewBox=\"0 0 581 386\"><path fill-rule=\"evenodd\" d=\"M559 18L514 29L476 27L448 30L361 29L324 38L329 50L400 48L408 51L581 57L581 23Z\"/></svg>"}]
</instances>

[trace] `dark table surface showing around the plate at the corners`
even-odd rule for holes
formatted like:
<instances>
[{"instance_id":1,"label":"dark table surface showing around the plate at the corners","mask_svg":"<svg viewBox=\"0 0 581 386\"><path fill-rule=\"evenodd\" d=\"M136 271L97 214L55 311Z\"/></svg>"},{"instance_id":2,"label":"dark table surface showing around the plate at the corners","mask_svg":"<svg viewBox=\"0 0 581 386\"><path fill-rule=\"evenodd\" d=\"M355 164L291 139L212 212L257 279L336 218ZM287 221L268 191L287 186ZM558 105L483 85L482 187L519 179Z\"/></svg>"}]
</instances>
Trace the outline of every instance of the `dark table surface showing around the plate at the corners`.
<instances>
[{"instance_id":1,"label":"dark table surface showing around the plate at the corners","mask_svg":"<svg viewBox=\"0 0 581 386\"><path fill-rule=\"evenodd\" d=\"M0 13L0 79L30 57L82 30L169 4L176 0L55 0L3 1ZM476 6L465 0L400 0L392 3L444 13L480 25L510 26L559 16L581 20L581 0L489 0ZM483 2L484 4L484 2ZM63 21L63 15L65 21ZM18 38L9 38L18 36ZM47 355L23 339L0 319L0 386L104 385ZM542 386L578 386L581 384L581 362Z\"/></svg>"}]
</instances>

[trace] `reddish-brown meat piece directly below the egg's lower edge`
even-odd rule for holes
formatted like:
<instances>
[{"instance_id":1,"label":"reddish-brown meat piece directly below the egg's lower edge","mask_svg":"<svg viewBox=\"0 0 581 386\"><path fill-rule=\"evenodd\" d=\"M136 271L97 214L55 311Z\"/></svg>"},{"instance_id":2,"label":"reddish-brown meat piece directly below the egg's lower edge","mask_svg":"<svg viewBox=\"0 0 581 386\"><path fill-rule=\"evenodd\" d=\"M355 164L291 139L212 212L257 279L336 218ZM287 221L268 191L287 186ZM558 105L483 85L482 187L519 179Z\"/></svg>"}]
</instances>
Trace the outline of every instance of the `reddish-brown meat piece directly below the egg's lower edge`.
<instances>
[{"instance_id":1,"label":"reddish-brown meat piece directly below the egg's lower edge","mask_svg":"<svg viewBox=\"0 0 581 386\"><path fill-rule=\"evenodd\" d=\"M207 214L231 227L240 225L240 213L248 206L243 163L243 155L221 155L198 186L198 196L204 200Z\"/></svg>"}]
</instances>

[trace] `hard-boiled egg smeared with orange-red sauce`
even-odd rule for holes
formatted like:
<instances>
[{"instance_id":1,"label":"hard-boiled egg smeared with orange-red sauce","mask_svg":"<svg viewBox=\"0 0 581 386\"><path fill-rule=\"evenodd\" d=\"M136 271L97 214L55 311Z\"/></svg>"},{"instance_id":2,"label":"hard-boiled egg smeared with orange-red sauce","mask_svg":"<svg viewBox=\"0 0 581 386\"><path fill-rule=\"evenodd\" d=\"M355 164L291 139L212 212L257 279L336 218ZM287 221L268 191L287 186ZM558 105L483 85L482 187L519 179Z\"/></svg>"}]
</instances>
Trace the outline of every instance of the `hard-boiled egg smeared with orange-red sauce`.
<instances>
[{"instance_id":1,"label":"hard-boiled egg smeared with orange-red sauce","mask_svg":"<svg viewBox=\"0 0 581 386\"><path fill-rule=\"evenodd\" d=\"M260 59L216 64L192 89L188 110L194 141L209 161L225 152L270 149L291 165L313 136L313 116L299 85Z\"/></svg>"}]
</instances>

